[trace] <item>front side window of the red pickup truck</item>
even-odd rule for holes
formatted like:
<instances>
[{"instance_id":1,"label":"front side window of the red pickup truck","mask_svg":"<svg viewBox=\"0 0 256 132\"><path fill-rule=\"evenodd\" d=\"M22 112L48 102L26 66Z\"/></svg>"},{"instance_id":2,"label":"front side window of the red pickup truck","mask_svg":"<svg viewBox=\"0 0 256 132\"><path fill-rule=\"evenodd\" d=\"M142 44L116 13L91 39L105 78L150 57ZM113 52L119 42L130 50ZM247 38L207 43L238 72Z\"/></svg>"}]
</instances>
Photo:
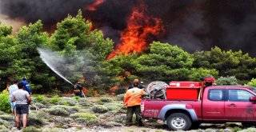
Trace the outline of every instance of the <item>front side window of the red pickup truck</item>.
<instances>
[{"instance_id":1,"label":"front side window of the red pickup truck","mask_svg":"<svg viewBox=\"0 0 256 132\"><path fill-rule=\"evenodd\" d=\"M254 96L246 90L229 90L229 101L231 102L249 102L249 98Z\"/></svg>"}]
</instances>

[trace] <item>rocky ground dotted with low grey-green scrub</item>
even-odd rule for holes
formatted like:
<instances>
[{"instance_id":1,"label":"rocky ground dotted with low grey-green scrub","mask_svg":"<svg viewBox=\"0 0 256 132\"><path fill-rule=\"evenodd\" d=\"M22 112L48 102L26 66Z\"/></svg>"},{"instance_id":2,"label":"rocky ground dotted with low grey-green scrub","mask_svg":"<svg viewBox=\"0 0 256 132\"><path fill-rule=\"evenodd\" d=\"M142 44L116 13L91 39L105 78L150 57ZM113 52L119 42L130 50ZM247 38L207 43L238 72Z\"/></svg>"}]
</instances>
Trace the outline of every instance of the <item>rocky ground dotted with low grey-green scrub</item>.
<instances>
[{"instance_id":1,"label":"rocky ground dotted with low grey-green scrub","mask_svg":"<svg viewBox=\"0 0 256 132\"><path fill-rule=\"evenodd\" d=\"M126 109L123 108L109 118L106 122L104 119L114 114L122 106L122 96L115 97L98 97L98 98L77 98L77 97L46 97L43 95L34 95L33 105L30 105L30 114L28 127L17 130L14 127L14 119L11 114L0 111L0 132L3 131L34 131L34 132L55 132L55 131L90 131L90 132L137 132L152 131L163 132L169 131L164 123L155 119L144 119L144 126L123 126L126 118ZM50 118L59 121L56 122ZM64 124L64 125L63 125ZM78 127L77 127L78 126ZM84 127L79 127L84 126ZM256 131L256 128L245 128L241 123L225 124L202 124L197 130L190 132L234 132L234 131Z\"/></svg>"}]
</instances>

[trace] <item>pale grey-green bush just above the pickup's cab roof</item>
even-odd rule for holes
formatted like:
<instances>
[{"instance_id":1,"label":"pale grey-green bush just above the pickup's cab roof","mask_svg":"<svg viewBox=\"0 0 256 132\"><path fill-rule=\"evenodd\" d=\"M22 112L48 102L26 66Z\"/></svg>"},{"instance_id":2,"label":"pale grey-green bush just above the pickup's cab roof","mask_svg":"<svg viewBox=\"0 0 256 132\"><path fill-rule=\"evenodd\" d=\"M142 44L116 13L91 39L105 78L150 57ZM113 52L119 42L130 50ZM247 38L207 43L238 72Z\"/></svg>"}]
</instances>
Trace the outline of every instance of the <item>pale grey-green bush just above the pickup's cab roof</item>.
<instances>
[{"instance_id":1,"label":"pale grey-green bush just above the pickup's cab roof","mask_svg":"<svg viewBox=\"0 0 256 132\"><path fill-rule=\"evenodd\" d=\"M238 80L234 76L220 77L215 80L218 86L238 86Z\"/></svg>"}]
</instances>

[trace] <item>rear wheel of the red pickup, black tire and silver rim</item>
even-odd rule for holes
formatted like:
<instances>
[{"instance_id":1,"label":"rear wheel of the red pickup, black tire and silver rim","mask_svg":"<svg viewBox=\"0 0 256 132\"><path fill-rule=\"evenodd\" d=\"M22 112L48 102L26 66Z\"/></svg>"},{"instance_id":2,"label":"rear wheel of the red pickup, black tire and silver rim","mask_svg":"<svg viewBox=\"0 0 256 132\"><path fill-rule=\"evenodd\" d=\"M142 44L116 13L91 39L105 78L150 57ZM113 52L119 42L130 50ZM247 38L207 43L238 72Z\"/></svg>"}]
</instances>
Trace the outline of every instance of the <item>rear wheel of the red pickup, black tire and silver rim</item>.
<instances>
[{"instance_id":1,"label":"rear wheel of the red pickup, black tire and silver rim","mask_svg":"<svg viewBox=\"0 0 256 132\"><path fill-rule=\"evenodd\" d=\"M192 122L186 114L170 114L166 120L166 125L170 130L189 130Z\"/></svg>"}]
</instances>

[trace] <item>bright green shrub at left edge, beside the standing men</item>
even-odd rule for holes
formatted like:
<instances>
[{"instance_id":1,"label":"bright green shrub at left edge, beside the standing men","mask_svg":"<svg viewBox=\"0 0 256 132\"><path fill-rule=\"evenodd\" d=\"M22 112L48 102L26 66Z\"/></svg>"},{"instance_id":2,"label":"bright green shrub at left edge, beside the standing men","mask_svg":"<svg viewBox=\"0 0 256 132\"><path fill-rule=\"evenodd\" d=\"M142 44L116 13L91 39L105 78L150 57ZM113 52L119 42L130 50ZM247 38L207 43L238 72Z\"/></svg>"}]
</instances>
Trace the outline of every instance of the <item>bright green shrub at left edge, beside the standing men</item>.
<instances>
[{"instance_id":1,"label":"bright green shrub at left edge, beside the standing men","mask_svg":"<svg viewBox=\"0 0 256 132\"><path fill-rule=\"evenodd\" d=\"M0 94L0 111L4 111L6 113L10 112L10 102L9 95L7 94L7 90L3 90Z\"/></svg>"}]
</instances>

